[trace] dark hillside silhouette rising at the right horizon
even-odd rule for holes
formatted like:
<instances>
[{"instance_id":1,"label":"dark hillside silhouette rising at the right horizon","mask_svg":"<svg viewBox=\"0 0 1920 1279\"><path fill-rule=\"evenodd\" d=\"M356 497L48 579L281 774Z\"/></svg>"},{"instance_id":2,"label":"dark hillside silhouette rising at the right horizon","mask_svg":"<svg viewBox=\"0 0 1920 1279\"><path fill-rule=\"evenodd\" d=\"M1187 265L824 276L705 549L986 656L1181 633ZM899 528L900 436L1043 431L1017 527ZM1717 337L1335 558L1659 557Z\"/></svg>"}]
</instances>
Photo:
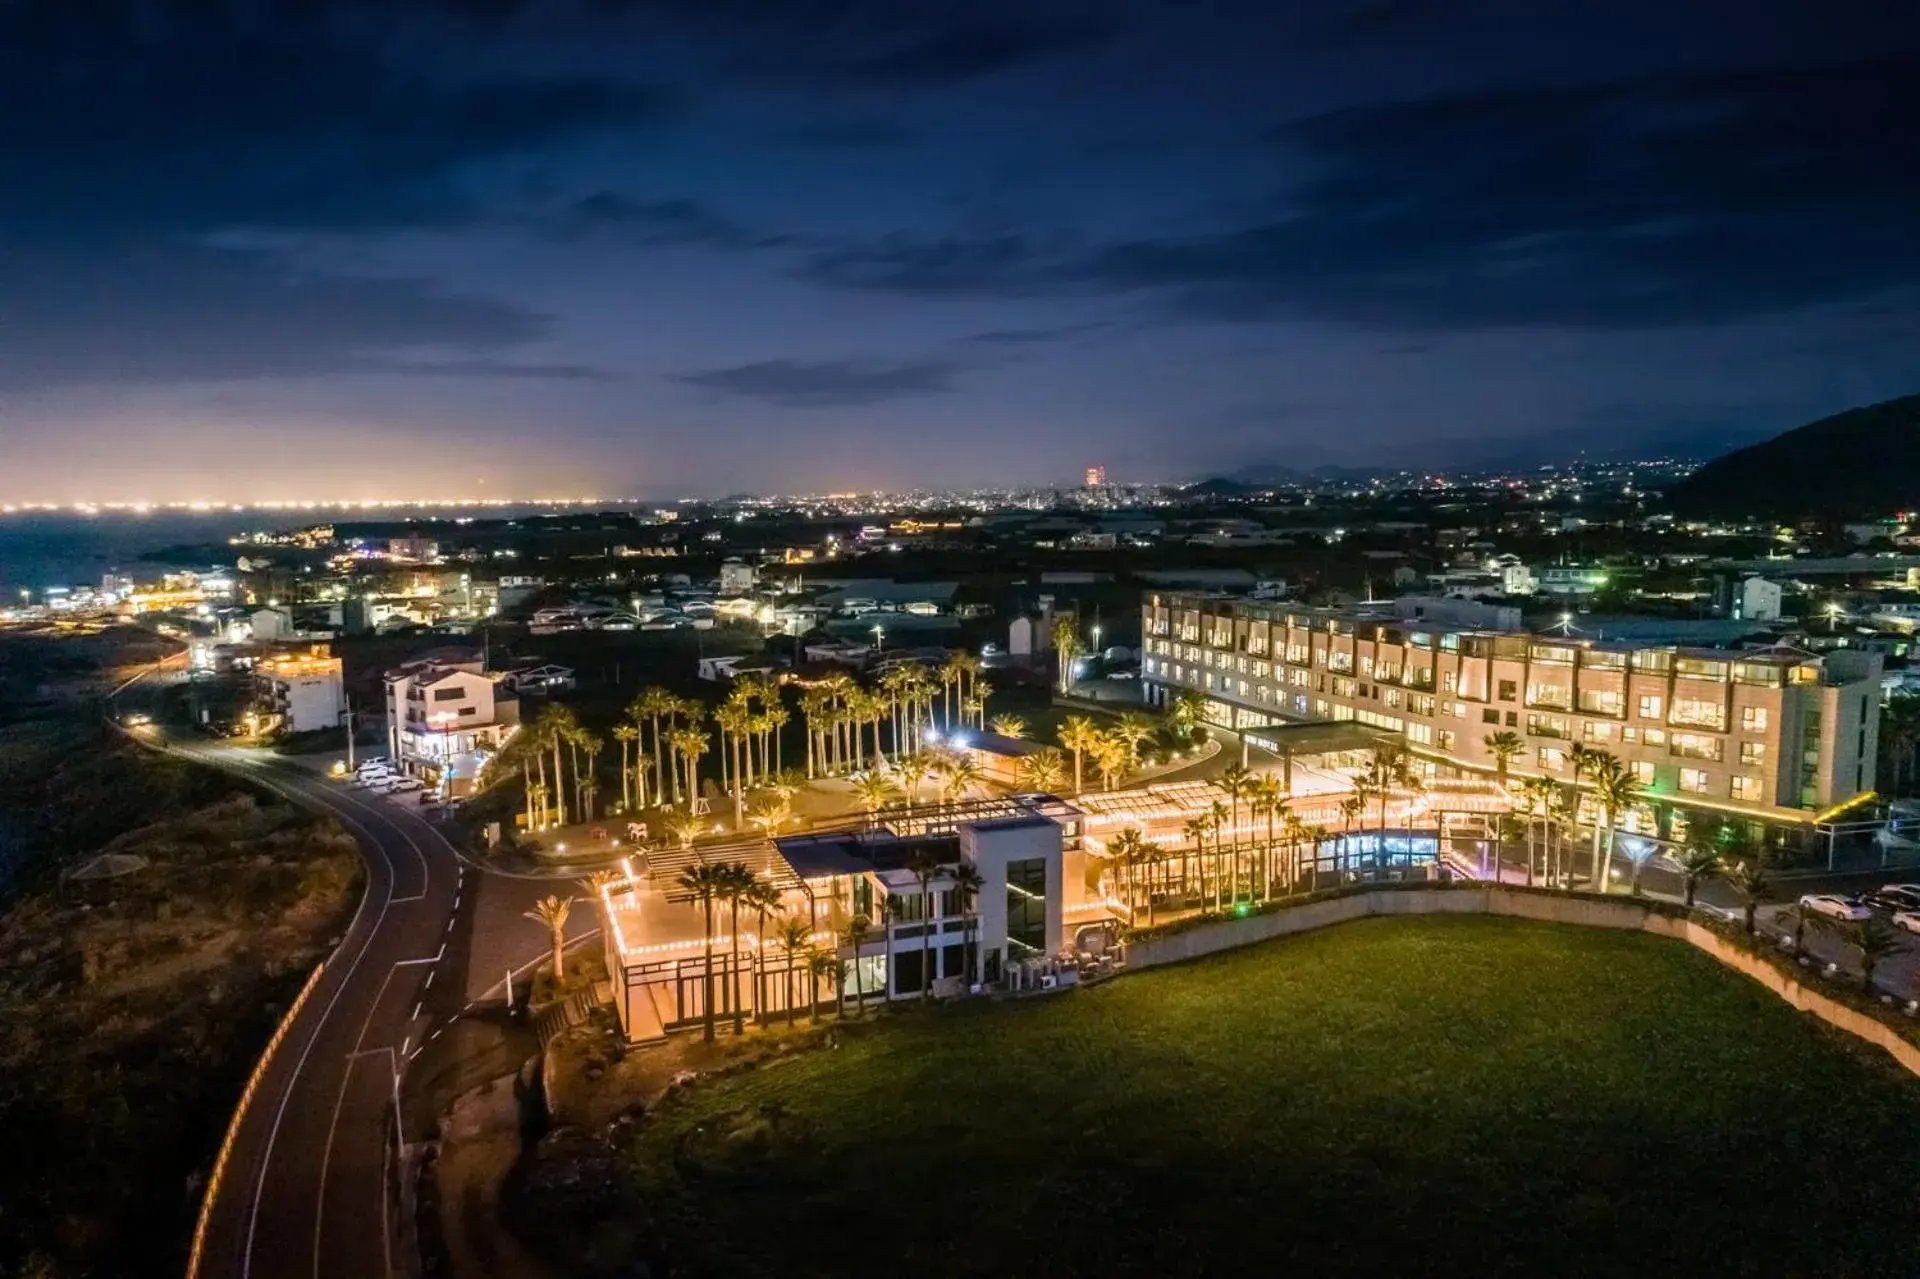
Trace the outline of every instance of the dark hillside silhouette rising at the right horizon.
<instances>
[{"instance_id":1,"label":"dark hillside silhouette rising at the right horizon","mask_svg":"<svg viewBox=\"0 0 1920 1279\"><path fill-rule=\"evenodd\" d=\"M1680 515L1887 515L1920 507L1920 396L1822 417L1707 463L1668 494Z\"/></svg>"}]
</instances>

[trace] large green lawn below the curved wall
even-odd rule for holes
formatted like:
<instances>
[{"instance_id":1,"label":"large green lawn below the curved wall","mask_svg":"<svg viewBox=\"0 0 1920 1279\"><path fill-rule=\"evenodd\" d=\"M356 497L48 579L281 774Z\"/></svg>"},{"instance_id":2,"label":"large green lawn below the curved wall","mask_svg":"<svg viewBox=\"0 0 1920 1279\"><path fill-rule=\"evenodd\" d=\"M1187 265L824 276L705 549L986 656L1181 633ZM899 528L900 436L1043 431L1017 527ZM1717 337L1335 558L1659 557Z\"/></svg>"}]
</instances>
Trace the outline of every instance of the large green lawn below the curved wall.
<instances>
[{"instance_id":1,"label":"large green lawn below the curved wall","mask_svg":"<svg viewBox=\"0 0 1920 1279\"><path fill-rule=\"evenodd\" d=\"M1680 943L1369 920L854 1026L636 1139L674 1273L1914 1273L1920 1081Z\"/></svg>"}]
</instances>

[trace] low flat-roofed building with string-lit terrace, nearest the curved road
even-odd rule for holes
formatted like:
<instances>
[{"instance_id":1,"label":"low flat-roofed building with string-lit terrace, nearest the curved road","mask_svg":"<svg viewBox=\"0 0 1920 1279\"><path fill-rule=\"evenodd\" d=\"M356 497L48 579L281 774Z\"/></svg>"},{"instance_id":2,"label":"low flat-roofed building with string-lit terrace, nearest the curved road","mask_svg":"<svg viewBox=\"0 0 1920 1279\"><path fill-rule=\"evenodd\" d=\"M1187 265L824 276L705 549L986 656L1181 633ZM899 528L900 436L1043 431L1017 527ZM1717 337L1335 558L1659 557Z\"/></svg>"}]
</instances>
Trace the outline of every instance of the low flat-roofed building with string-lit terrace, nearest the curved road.
<instances>
[{"instance_id":1,"label":"low flat-roofed building with string-lit terrace, nearest the curved road","mask_svg":"<svg viewBox=\"0 0 1920 1279\"><path fill-rule=\"evenodd\" d=\"M1050 795L970 801L889 814L887 826L751 839L705 849L647 849L601 889L607 970L630 1039L655 1039L714 1014L785 1016L858 999L918 999L1071 981L1064 953L1112 937L1102 866L1081 849L1081 814ZM766 918L712 906L682 876L741 864L780 893ZM856 937L851 924L864 916ZM789 953L785 922L837 954L835 989ZM735 935L737 928L737 935ZM708 945L712 972L708 974Z\"/></svg>"}]
</instances>

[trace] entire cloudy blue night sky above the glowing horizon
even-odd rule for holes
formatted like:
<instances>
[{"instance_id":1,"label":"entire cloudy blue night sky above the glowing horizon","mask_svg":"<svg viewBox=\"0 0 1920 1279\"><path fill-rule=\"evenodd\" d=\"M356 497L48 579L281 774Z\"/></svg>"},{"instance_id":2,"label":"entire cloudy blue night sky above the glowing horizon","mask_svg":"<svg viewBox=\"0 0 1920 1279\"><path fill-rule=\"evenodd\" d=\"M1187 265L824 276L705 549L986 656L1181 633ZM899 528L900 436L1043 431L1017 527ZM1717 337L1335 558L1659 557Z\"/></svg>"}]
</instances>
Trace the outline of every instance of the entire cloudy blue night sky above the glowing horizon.
<instances>
[{"instance_id":1,"label":"entire cloudy blue night sky above the glowing horizon","mask_svg":"<svg viewBox=\"0 0 1920 1279\"><path fill-rule=\"evenodd\" d=\"M0 121L8 499L1461 469L1920 392L1910 0L0 0Z\"/></svg>"}]
</instances>

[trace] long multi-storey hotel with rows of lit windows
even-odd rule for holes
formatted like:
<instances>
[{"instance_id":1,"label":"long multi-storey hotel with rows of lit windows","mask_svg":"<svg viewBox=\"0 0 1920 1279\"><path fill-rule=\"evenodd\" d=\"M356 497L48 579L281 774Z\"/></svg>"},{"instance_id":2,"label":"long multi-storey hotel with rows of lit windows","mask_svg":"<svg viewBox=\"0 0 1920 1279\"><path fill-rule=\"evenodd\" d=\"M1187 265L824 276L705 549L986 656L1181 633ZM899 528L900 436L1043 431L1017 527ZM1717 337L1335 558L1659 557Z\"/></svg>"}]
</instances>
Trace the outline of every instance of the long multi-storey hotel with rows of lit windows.
<instances>
[{"instance_id":1,"label":"long multi-storey hotel with rows of lit windows","mask_svg":"<svg viewBox=\"0 0 1920 1279\"><path fill-rule=\"evenodd\" d=\"M1140 676L1154 705L1190 689L1223 728L1359 720L1407 739L1428 770L1572 780L1572 747L1626 762L1672 833L1674 807L1809 828L1874 784L1880 657L1841 649L1718 651L1578 636L1450 630L1392 613L1206 593L1142 603ZM1651 832L1649 832L1651 833Z\"/></svg>"}]
</instances>

